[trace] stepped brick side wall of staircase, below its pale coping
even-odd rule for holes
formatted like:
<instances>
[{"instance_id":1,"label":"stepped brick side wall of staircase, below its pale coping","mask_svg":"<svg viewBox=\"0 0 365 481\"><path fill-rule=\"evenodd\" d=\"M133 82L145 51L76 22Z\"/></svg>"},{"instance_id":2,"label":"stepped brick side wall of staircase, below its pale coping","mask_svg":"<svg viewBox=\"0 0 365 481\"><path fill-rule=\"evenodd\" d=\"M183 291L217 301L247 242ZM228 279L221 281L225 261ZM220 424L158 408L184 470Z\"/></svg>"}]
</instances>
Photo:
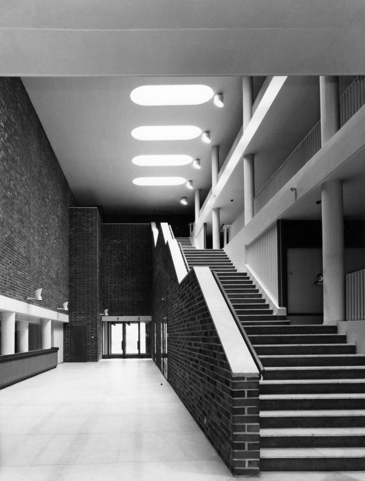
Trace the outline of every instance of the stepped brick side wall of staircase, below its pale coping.
<instances>
[{"instance_id":1,"label":"stepped brick side wall of staircase, below its pale coping","mask_svg":"<svg viewBox=\"0 0 365 481\"><path fill-rule=\"evenodd\" d=\"M153 266L155 362L167 316L169 383L232 473L258 476L259 378L232 376L195 273L178 284L162 232Z\"/></svg>"}]
</instances>

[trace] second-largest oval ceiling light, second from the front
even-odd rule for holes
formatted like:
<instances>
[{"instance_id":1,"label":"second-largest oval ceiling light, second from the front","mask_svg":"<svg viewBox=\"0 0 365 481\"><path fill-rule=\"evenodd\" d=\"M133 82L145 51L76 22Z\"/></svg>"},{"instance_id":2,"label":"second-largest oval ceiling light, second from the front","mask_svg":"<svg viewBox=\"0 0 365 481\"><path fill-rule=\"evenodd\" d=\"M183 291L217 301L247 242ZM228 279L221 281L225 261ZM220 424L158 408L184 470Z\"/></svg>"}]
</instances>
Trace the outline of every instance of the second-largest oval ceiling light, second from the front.
<instances>
[{"instance_id":1,"label":"second-largest oval ceiling light, second from the front","mask_svg":"<svg viewBox=\"0 0 365 481\"><path fill-rule=\"evenodd\" d=\"M191 140L200 134L195 125L143 125L131 132L137 140Z\"/></svg>"}]
</instances>

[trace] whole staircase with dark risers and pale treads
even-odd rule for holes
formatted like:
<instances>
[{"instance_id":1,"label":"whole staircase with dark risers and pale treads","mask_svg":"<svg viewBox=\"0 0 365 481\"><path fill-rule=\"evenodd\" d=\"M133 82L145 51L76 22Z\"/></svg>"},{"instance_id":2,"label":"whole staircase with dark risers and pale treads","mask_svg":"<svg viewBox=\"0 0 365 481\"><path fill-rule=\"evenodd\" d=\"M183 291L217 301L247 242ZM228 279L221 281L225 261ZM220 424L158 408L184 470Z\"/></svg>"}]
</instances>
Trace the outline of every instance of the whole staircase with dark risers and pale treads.
<instances>
[{"instance_id":1,"label":"whole staircase with dark risers and pale treads","mask_svg":"<svg viewBox=\"0 0 365 481\"><path fill-rule=\"evenodd\" d=\"M365 356L337 326L293 325L274 314L223 250L178 241L189 267L217 273L265 367L260 470L365 470Z\"/></svg>"}]
</instances>

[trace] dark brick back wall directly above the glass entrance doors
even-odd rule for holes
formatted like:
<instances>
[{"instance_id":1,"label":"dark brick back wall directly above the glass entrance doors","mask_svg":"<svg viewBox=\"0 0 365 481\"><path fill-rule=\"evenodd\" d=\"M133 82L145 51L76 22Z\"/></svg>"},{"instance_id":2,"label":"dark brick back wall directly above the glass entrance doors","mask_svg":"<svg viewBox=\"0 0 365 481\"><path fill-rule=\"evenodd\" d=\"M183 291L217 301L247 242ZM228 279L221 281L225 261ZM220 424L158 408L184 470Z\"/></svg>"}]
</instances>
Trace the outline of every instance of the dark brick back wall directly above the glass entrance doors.
<instances>
[{"instance_id":1,"label":"dark brick back wall directly above the glass entrance doors","mask_svg":"<svg viewBox=\"0 0 365 481\"><path fill-rule=\"evenodd\" d=\"M102 225L102 296L109 315L151 315L151 224Z\"/></svg>"}]
</instances>

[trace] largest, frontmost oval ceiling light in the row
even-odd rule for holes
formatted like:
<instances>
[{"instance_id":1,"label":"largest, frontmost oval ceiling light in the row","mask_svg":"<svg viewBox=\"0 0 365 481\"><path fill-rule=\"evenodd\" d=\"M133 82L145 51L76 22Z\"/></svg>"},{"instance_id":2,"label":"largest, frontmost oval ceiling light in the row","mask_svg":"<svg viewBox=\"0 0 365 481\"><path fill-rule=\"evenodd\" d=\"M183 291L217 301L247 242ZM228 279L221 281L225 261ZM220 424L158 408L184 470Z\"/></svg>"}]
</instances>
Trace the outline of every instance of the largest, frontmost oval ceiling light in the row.
<instances>
[{"instance_id":1,"label":"largest, frontmost oval ceiling light in the row","mask_svg":"<svg viewBox=\"0 0 365 481\"><path fill-rule=\"evenodd\" d=\"M130 98L138 105L199 105L213 93L207 85L142 85L132 90Z\"/></svg>"}]
</instances>

